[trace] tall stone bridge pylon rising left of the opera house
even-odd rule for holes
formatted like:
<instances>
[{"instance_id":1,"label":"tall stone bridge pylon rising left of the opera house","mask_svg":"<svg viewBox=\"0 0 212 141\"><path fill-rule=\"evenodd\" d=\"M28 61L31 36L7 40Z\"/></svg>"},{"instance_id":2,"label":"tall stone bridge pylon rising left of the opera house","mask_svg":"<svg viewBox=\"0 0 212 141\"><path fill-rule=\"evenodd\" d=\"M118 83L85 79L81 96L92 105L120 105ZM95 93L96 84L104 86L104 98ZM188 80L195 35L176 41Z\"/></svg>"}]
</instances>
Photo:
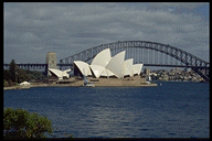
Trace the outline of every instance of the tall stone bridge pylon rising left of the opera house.
<instances>
[{"instance_id":1,"label":"tall stone bridge pylon rising left of the opera house","mask_svg":"<svg viewBox=\"0 0 212 141\"><path fill-rule=\"evenodd\" d=\"M46 74L47 74L47 76L50 76L51 73L49 72L49 68L57 69L57 66L56 66L56 53L49 52L46 54L46 57L45 57L45 63L47 64Z\"/></svg>"}]
</instances>

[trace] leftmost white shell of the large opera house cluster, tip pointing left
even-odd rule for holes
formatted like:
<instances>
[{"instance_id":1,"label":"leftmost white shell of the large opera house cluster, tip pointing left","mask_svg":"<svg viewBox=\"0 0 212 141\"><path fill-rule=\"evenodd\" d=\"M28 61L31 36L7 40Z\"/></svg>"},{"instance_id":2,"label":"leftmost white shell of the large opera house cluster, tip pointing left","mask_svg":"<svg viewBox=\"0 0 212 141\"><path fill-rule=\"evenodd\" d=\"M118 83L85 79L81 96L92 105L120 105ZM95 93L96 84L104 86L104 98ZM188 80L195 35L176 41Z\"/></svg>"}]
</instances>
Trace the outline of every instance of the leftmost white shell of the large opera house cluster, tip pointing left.
<instances>
[{"instance_id":1,"label":"leftmost white shell of the large opera house cluster, tip pointing left","mask_svg":"<svg viewBox=\"0 0 212 141\"><path fill-rule=\"evenodd\" d=\"M74 64L78 67L81 73L85 76L92 75L92 72L89 69L89 65L82 61L74 61Z\"/></svg>"}]
</instances>

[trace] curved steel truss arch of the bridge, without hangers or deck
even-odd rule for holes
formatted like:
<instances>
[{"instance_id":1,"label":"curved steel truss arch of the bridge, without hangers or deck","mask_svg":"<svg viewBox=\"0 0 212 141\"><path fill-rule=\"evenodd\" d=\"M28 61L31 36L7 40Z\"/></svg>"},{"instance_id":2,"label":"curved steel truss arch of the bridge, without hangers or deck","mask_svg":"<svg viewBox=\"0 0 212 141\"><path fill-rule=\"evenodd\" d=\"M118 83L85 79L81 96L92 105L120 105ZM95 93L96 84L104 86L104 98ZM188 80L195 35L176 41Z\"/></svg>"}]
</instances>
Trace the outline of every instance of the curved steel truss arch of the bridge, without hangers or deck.
<instances>
[{"instance_id":1,"label":"curved steel truss arch of the bridge, without hangers or deck","mask_svg":"<svg viewBox=\"0 0 212 141\"><path fill-rule=\"evenodd\" d=\"M171 46L169 44L162 44L157 42L149 41L118 41L114 43L100 44L98 46L85 50L72 56L60 59L60 64L73 64L74 61L84 61L88 62L96 56L100 51L105 48L110 48L112 51L124 51L128 48L148 48L155 50L157 52L167 54L179 62L183 63L184 66L191 67L195 73L202 76L206 82L210 82L210 63L201 59L200 57L188 53L181 48ZM205 70L205 74L202 73L202 69Z\"/></svg>"}]
</instances>

